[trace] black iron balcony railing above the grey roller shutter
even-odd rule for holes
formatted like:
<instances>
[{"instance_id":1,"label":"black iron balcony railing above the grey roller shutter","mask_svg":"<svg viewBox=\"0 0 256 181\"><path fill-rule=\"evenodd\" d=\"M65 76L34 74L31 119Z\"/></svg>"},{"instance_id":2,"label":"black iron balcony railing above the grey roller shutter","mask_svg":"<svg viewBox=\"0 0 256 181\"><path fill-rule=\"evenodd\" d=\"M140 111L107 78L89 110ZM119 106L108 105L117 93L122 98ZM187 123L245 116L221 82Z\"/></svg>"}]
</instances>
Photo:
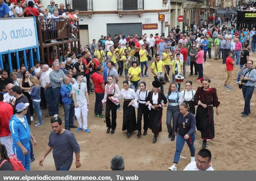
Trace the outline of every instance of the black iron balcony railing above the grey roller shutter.
<instances>
[{"instance_id":1,"label":"black iron balcony railing above the grey roller shutter","mask_svg":"<svg viewBox=\"0 0 256 181\"><path fill-rule=\"evenodd\" d=\"M144 0L117 0L117 11L144 10Z\"/></svg>"}]
</instances>

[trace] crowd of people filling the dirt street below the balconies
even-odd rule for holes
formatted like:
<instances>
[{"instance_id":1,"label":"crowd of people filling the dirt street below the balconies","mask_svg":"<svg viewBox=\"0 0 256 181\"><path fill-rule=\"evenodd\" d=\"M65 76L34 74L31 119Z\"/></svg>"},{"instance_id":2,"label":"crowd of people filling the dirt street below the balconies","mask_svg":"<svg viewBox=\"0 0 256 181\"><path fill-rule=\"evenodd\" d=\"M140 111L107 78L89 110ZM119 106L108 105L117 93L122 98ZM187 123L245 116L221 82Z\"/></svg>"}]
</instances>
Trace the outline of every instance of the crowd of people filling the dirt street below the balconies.
<instances>
[{"instance_id":1,"label":"crowd of people filling the dirt street below the balconies","mask_svg":"<svg viewBox=\"0 0 256 181\"><path fill-rule=\"evenodd\" d=\"M49 9L51 12L54 7ZM244 35L250 36L245 42ZM162 132L163 109L167 107L168 137L171 141L176 137L173 165L168 169L177 170L180 153L187 142L191 163L185 170L213 170L209 150L200 150L195 158L196 131L201 132L202 148L206 148L207 140L214 138L213 107L216 107L216 115L220 114L217 90L210 86L210 78L204 77L203 64L207 63L207 53L211 59L211 48L214 46L214 60L220 59L222 55L222 63L226 64L227 79L224 86L230 90L234 66L240 65L237 83L242 88L245 101L241 116L248 116L256 82L256 70L253 61L249 60L250 44L252 53L255 52L255 28L251 31L246 28L239 33L234 25L231 28L210 25L207 29L207 24L197 25L194 22L190 27L186 24L183 30L179 26L172 27L167 37L157 33L155 37L153 34L139 37L138 34L126 36L119 33L114 38L102 35L97 44L98 49L93 39L91 48L88 46L82 49L78 55L67 49L61 60L55 59L50 65L38 61L31 69L22 65L10 77L7 70L1 70L0 111L4 116L1 117L0 142L6 148L7 155L15 154L24 168L30 170L30 162L35 161L33 145L36 146L37 142L29 125L36 113L38 121L33 124L38 127L36 129L42 129L44 117L52 117L53 130L39 165L43 166L45 157L53 149L56 170L70 169L73 152L76 154L76 168L79 168L80 147L71 128L76 128L76 132L91 132L87 123L88 119L93 118L87 115L89 103L94 101L94 117L105 119L106 133L115 134L116 112L121 109L120 100L123 99L122 131L127 131L127 138L136 130L137 137L142 135L143 116L143 135L148 134L148 128L151 129L154 134L152 142L156 143ZM132 51L136 52L133 60L129 57ZM154 55L156 61L151 65L153 89L148 90L148 85L141 79L148 77L148 61ZM186 66L190 66L189 74L186 74ZM120 90L119 80L124 76L123 72L125 80ZM243 79L240 82L241 75ZM177 77L189 77L185 89ZM192 89L193 78L202 83L196 91ZM170 82L166 93L165 82ZM95 100L90 98L92 93L95 93ZM64 109L64 127L59 105ZM48 113L43 115L42 111L47 106ZM137 116L135 109L138 109Z\"/></svg>"}]
</instances>

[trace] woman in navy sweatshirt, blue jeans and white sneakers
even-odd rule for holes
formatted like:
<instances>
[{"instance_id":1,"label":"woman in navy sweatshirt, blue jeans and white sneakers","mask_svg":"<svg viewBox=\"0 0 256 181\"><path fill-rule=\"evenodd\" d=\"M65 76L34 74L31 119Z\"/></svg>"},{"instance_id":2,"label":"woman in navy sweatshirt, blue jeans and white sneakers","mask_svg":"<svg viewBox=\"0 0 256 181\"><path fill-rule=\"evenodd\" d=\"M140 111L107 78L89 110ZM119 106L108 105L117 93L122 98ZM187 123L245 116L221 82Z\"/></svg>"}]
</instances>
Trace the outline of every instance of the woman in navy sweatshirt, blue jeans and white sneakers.
<instances>
[{"instance_id":1,"label":"woman in navy sweatshirt, blue jeans and white sneakers","mask_svg":"<svg viewBox=\"0 0 256 181\"><path fill-rule=\"evenodd\" d=\"M180 104L180 112L178 119L176 120L175 136L176 139L176 151L174 154L173 165L169 167L169 170L177 170L177 164L180 160L180 153L184 147L185 141L190 149L191 160L190 163L195 162L195 146L196 139L195 128L196 119L195 115L188 111L189 105L186 102Z\"/></svg>"}]
</instances>

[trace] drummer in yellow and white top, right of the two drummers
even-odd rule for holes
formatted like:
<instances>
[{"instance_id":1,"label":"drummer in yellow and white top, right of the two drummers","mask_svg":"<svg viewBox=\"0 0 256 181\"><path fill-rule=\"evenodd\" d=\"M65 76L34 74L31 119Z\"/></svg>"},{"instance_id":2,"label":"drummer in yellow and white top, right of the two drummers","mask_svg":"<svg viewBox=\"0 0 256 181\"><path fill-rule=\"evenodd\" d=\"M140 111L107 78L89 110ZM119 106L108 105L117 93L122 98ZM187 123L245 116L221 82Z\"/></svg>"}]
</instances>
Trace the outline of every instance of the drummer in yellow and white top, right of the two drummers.
<instances>
[{"instance_id":1,"label":"drummer in yellow and white top, right of the two drummers","mask_svg":"<svg viewBox=\"0 0 256 181\"><path fill-rule=\"evenodd\" d=\"M172 82L175 82L175 76L181 76L183 74L183 61L180 60L179 53L176 54L176 59L172 60L171 62L171 73L172 73ZM180 92L180 86L181 86L181 83L178 83L179 92Z\"/></svg>"}]
</instances>

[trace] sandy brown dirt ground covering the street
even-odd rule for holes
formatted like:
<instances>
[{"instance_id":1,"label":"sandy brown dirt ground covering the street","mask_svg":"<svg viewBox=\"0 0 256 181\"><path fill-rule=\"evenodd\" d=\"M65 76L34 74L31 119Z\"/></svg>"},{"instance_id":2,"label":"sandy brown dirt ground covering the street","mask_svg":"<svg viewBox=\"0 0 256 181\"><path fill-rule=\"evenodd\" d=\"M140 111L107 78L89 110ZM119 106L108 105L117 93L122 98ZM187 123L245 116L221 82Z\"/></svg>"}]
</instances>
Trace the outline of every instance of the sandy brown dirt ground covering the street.
<instances>
[{"instance_id":1,"label":"sandy brown dirt ground covering the street","mask_svg":"<svg viewBox=\"0 0 256 181\"><path fill-rule=\"evenodd\" d=\"M212 48L212 55L214 55L214 48ZM234 68L233 75L235 76L231 83L233 90L227 92L226 88L222 86L226 76L226 66L222 64L222 60L215 61L213 58L212 56L211 60L207 59L207 63L203 65L204 76L211 79L210 86L217 89L220 101L219 116L216 115L216 108L214 108L215 138L207 143L207 148L212 152L212 166L215 170L255 170L256 157L254 152L256 145L254 135L256 126L253 126L256 125L255 91L251 99L252 113L246 118L241 118L240 112L244 108L244 99L242 91L236 84L236 72L239 67ZM250 54L250 59L255 60L255 54ZM152 89L151 83L154 80L151 73L153 61L149 62L149 77L141 77L140 79L148 84L148 90ZM188 75L190 66L186 66L186 70ZM120 79L118 86L121 90L124 77L120 77ZM196 77L187 76L185 81L189 79L193 82L192 88L194 90L201 86L200 81L195 81ZM185 89L185 81L181 85L181 90ZM167 83L164 86L164 92L168 90L169 85L170 83ZM175 141L170 141L168 138L166 107L162 117L163 131L159 134L157 142L153 144L153 133L150 130L148 130L146 136L142 135L138 138L136 131L132 133L130 138L126 138L126 131L122 131L122 109L117 111L115 134L106 134L106 123L103 122L105 119L93 117L95 94L92 93L89 97L88 128L91 133L85 133L84 131L77 133L76 128L71 128L81 148L80 160L82 164L82 167L76 169L75 163L73 163L71 170L110 170L110 160L117 154L124 157L125 170L167 170L172 165L176 139ZM121 100L121 105L123 105L123 100ZM43 115L45 114L47 114L47 110L43 111ZM59 117L64 121L63 107L60 107ZM52 152L45 158L44 167L39 167L38 165L38 160L44 153L51 132L50 118L44 117L43 127L34 127L37 120L36 115L34 120L30 129L37 140L38 146L34 147L36 161L31 163L31 170L55 170ZM75 125L77 125L76 120ZM196 132L195 141L196 153L202 147L200 138L201 133L198 131ZM180 158L178 170L183 170L190 163L190 152L186 143L181 156L187 157L187 159Z\"/></svg>"}]
</instances>

